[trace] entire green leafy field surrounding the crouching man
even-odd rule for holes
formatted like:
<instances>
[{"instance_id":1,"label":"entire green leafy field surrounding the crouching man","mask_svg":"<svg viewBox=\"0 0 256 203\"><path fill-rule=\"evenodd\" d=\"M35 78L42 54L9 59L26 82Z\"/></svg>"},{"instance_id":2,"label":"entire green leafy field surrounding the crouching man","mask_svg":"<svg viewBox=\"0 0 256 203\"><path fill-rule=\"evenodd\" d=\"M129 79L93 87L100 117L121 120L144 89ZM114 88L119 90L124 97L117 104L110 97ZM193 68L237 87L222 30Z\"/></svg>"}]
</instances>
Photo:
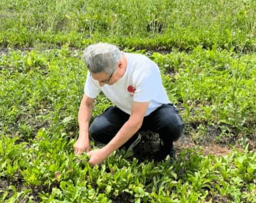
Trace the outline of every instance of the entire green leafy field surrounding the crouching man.
<instances>
[{"instance_id":1,"label":"entire green leafy field surrounding the crouching man","mask_svg":"<svg viewBox=\"0 0 256 203\"><path fill-rule=\"evenodd\" d=\"M0 202L256 202L256 1L2 0L0 19ZM99 41L159 65L185 123L173 165L150 132L99 166L74 155Z\"/></svg>"}]
</instances>

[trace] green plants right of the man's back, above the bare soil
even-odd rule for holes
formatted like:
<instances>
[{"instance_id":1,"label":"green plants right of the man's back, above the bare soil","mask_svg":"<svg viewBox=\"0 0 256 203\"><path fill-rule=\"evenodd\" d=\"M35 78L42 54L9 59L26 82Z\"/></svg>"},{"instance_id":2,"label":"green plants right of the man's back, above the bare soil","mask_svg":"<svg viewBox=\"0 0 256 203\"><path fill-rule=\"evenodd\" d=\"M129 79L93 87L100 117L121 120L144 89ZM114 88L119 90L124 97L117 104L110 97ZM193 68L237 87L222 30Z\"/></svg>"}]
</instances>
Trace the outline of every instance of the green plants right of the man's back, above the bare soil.
<instances>
[{"instance_id":1,"label":"green plants right of the man's back, above the bare soil","mask_svg":"<svg viewBox=\"0 0 256 203\"><path fill-rule=\"evenodd\" d=\"M237 56L199 46L189 54L154 53L151 59L162 68L170 100L186 107L186 121L224 123L239 129L255 123L254 54Z\"/></svg>"}]
</instances>

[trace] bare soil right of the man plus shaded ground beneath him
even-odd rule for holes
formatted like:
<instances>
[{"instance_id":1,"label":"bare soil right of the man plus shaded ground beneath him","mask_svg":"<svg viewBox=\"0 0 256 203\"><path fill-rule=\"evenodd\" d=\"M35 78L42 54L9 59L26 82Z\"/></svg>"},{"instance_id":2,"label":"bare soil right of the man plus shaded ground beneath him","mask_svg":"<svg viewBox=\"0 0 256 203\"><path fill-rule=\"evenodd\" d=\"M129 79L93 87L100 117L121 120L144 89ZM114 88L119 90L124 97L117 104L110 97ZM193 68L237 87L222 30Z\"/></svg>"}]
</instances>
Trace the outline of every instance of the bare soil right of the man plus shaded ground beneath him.
<instances>
[{"instance_id":1,"label":"bare soil right of the man plus shaded ground beneath him","mask_svg":"<svg viewBox=\"0 0 256 203\"><path fill-rule=\"evenodd\" d=\"M244 143L241 141L243 138L240 137L239 133L231 137L223 137L223 139L220 140L218 139L219 130L213 127L208 128L206 136L192 139L191 130L193 126L186 126L183 136L174 143L177 157L179 157L181 151L187 148L194 148L195 150L200 150L203 155L212 154L216 157L230 153L233 147L243 150L246 144L248 144L249 150L256 151L256 135L247 137ZM159 136L157 133L152 132L142 132L141 135L141 142L134 148L133 157L136 157L139 162L145 160L151 161L154 157L154 153L158 150L160 143Z\"/></svg>"}]
</instances>

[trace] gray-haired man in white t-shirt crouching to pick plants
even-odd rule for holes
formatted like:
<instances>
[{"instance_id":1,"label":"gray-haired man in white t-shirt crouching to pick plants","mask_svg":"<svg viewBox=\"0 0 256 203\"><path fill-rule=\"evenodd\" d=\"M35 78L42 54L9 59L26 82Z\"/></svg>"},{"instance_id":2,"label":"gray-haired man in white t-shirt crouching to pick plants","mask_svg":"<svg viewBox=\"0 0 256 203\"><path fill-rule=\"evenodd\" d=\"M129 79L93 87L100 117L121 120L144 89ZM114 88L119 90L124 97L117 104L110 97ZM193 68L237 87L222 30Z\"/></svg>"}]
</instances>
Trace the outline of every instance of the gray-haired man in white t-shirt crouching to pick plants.
<instances>
[{"instance_id":1,"label":"gray-haired man in white t-shirt crouching to pick plants","mask_svg":"<svg viewBox=\"0 0 256 203\"><path fill-rule=\"evenodd\" d=\"M88 68L79 108L79 138L75 154L86 151L91 165L100 164L121 146L127 150L140 141L140 131L159 134L156 159L175 158L173 142L182 135L183 122L169 102L157 64L143 55L123 53L111 44L94 44L84 50ZM100 92L115 106L96 117L89 128L94 100ZM89 135L106 144L90 150Z\"/></svg>"}]
</instances>

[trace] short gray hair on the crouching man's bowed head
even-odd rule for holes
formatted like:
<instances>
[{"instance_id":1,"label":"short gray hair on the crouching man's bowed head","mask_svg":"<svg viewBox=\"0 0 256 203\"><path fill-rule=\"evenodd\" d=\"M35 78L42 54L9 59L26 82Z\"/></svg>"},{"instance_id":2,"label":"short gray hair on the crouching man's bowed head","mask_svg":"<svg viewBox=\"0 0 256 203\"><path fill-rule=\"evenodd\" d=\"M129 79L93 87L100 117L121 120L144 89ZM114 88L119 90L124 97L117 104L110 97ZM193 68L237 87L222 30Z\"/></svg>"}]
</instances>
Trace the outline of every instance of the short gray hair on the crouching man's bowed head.
<instances>
[{"instance_id":1,"label":"short gray hair on the crouching man's bowed head","mask_svg":"<svg viewBox=\"0 0 256 203\"><path fill-rule=\"evenodd\" d=\"M122 53L115 45L98 43L90 45L84 50L83 59L91 73L112 74L121 57Z\"/></svg>"}]
</instances>

